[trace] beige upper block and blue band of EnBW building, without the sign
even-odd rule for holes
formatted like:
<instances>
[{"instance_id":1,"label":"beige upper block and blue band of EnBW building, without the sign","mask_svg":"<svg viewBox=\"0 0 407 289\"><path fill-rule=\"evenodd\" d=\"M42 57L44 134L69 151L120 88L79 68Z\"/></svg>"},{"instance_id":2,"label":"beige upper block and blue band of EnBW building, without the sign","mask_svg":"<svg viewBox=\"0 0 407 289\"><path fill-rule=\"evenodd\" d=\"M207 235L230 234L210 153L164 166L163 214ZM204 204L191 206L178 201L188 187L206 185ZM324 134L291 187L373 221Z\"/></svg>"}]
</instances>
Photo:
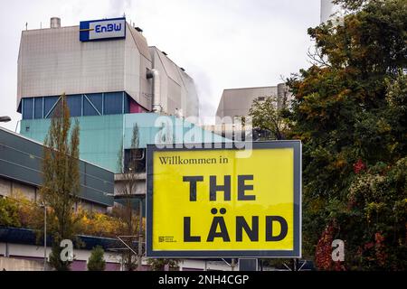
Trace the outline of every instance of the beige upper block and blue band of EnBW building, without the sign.
<instances>
[{"instance_id":1,"label":"beige upper block and blue band of EnBW building, without the sign","mask_svg":"<svg viewBox=\"0 0 407 289\"><path fill-rule=\"evenodd\" d=\"M52 18L51 28L22 32L17 107L24 119L49 117L62 93L72 117L152 110L198 115L194 80L165 52L148 47L140 28L119 20L122 38L80 40L80 26L62 27L59 18Z\"/></svg>"}]
</instances>

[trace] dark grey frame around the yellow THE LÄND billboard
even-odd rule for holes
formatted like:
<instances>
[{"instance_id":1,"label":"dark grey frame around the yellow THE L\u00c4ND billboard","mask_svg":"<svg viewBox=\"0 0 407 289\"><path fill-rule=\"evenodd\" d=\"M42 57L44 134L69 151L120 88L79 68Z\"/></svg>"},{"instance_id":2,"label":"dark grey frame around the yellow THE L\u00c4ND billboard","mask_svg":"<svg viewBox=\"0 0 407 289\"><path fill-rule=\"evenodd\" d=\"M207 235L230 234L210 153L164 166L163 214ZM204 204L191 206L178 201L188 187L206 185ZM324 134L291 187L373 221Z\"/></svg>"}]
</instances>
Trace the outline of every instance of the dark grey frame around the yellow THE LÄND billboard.
<instances>
[{"instance_id":1,"label":"dark grey frame around the yellow THE L\u00c4ND billboard","mask_svg":"<svg viewBox=\"0 0 407 289\"><path fill-rule=\"evenodd\" d=\"M294 219L292 250L153 250L153 160L155 152L242 150L232 143L211 144L169 144L172 147L158 148L147 144L147 198L146 198L146 256L155 258L200 258L200 257L241 257L241 258L300 258L302 248L302 144L298 140L252 142L252 149L292 148L294 150ZM180 147L182 145L182 147ZM200 147L196 147L199 145Z\"/></svg>"}]
</instances>

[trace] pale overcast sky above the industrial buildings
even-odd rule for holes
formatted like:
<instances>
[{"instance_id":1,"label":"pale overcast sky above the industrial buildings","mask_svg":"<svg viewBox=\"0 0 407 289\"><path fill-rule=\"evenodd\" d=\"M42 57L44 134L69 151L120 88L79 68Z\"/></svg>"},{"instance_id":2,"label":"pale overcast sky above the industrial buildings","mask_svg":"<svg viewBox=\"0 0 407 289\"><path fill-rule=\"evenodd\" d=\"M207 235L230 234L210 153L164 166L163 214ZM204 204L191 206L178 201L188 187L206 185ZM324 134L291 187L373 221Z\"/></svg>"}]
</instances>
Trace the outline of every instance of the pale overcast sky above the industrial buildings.
<instances>
[{"instance_id":1,"label":"pale overcast sky above the industrial buildings","mask_svg":"<svg viewBox=\"0 0 407 289\"><path fill-rule=\"evenodd\" d=\"M309 66L307 29L319 22L320 0L13 0L0 11L0 123L14 130L21 31L118 17L144 30L195 81L202 116L213 117L223 89L273 86Z\"/></svg>"}]
</instances>

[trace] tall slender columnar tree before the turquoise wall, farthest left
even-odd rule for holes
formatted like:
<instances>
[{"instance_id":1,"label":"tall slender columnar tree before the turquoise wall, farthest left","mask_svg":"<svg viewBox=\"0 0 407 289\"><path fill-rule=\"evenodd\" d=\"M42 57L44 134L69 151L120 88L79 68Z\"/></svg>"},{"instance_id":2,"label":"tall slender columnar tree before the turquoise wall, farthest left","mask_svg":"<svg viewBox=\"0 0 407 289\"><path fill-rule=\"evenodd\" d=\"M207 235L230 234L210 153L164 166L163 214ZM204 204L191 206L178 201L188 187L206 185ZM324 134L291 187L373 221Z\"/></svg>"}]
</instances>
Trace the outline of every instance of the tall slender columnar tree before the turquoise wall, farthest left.
<instances>
[{"instance_id":1,"label":"tall slender columnar tree before the turquoise wall, farthest left","mask_svg":"<svg viewBox=\"0 0 407 289\"><path fill-rule=\"evenodd\" d=\"M50 209L48 228L52 234L50 262L56 270L69 270L69 261L62 261L59 246L62 239L76 235L74 205L80 189L79 124L71 129L70 111L63 94L52 113L49 132L43 146L43 186L40 194ZM71 136L70 136L71 135Z\"/></svg>"}]
</instances>

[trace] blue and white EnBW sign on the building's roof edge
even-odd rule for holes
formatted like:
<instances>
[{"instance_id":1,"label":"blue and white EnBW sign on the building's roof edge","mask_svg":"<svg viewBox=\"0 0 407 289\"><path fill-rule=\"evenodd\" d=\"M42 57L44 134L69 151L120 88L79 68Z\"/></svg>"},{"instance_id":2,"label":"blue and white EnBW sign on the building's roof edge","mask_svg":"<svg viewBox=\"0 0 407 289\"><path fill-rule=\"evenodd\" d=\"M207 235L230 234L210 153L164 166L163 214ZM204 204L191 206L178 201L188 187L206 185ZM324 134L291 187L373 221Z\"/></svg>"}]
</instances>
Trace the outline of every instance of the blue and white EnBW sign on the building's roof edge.
<instances>
[{"instance_id":1,"label":"blue and white EnBW sign on the building's roof edge","mask_svg":"<svg viewBox=\"0 0 407 289\"><path fill-rule=\"evenodd\" d=\"M126 38L126 18L80 22L81 42L122 38Z\"/></svg>"}]
</instances>

